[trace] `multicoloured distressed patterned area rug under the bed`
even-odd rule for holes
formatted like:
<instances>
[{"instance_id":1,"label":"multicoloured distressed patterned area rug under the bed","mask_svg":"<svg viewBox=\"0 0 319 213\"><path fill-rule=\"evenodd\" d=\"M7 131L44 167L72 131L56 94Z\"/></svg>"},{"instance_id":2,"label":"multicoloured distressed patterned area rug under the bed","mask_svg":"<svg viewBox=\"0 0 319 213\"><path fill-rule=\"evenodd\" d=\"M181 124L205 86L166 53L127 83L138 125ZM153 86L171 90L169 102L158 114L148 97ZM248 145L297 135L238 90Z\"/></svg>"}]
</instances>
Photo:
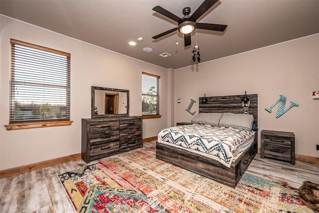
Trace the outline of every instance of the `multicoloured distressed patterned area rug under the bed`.
<instances>
[{"instance_id":1,"label":"multicoloured distressed patterned area rug under the bed","mask_svg":"<svg viewBox=\"0 0 319 213\"><path fill-rule=\"evenodd\" d=\"M312 213L298 189L244 174L236 189L155 158L155 148L58 175L79 213Z\"/></svg>"}]
</instances>

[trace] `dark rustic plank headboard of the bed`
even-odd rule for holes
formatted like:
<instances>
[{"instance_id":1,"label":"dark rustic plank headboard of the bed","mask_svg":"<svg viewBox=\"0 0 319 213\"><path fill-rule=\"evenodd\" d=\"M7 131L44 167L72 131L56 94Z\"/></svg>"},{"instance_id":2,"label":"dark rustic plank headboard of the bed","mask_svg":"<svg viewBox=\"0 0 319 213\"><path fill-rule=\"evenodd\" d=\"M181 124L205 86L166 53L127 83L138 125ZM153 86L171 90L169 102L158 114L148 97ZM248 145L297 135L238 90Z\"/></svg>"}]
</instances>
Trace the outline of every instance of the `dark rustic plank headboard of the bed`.
<instances>
[{"instance_id":1,"label":"dark rustic plank headboard of the bed","mask_svg":"<svg viewBox=\"0 0 319 213\"><path fill-rule=\"evenodd\" d=\"M204 112L231 112L236 114L244 113L244 108L241 104L242 95L230 95L230 96L211 96L206 97L207 103L202 103L204 97L199 97L199 113ZM258 94L248 94L247 97L250 100L250 106L248 113L253 115L255 120L254 124L258 126Z\"/></svg>"}]
</instances>

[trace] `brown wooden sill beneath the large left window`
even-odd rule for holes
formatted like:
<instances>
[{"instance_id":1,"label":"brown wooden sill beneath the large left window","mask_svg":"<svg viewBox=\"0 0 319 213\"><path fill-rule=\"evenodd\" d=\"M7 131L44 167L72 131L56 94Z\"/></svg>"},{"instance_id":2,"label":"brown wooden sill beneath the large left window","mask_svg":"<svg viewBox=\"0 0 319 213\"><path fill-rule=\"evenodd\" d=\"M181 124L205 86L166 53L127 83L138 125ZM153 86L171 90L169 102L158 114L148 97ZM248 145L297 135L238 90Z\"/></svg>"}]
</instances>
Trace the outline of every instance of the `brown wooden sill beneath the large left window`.
<instances>
[{"instance_id":1,"label":"brown wooden sill beneath the large left window","mask_svg":"<svg viewBox=\"0 0 319 213\"><path fill-rule=\"evenodd\" d=\"M70 126L72 122L73 121L51 121L41 123L6 124L4 125L4 127L6 130L33 129L44 127Z\"/></svg>"}]
</instances>

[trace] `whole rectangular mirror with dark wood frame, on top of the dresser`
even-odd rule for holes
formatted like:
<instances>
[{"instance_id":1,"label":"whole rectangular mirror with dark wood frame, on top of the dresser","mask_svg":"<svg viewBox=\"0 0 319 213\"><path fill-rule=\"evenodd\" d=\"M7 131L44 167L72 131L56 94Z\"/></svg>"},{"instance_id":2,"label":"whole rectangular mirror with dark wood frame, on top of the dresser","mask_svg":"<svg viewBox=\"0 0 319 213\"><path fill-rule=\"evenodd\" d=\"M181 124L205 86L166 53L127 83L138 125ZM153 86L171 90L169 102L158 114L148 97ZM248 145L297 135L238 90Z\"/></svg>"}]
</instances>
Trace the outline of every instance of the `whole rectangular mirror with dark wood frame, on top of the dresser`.
<instances>
[{"instance_id":1,"label":"whole rectangular mirror with dark wood frame, on top of the dresser","mask_svg":"<svg viewBox=\"0 0 319 213\"><path fill-rule=\"evenodd\" d=\"M129 116L129 90L91 87L92 118Z\"/></svg>"}]
</instances>

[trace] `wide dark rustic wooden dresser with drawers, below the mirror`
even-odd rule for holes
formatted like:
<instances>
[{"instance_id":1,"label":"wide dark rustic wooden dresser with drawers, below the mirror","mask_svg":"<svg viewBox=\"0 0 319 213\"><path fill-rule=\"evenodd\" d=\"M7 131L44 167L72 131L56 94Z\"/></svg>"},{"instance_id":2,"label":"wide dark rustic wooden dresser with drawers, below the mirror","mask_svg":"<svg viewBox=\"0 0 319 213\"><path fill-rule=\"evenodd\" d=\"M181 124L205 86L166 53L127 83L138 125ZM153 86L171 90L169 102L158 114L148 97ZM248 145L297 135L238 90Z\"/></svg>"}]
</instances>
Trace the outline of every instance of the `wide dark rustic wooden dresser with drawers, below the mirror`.
<instances>
[{"instance_id":1,"label":"wide dark rustic wooden dresser with drawers, below the mirror","mask_svg":"<svg viewBox=\"0 0 319 213\"><path fill-rule=\"evenodd\" d=\"M82 119L81 158L86 163L142 146L142 116Z\"/></svg>"}]
</instances>

